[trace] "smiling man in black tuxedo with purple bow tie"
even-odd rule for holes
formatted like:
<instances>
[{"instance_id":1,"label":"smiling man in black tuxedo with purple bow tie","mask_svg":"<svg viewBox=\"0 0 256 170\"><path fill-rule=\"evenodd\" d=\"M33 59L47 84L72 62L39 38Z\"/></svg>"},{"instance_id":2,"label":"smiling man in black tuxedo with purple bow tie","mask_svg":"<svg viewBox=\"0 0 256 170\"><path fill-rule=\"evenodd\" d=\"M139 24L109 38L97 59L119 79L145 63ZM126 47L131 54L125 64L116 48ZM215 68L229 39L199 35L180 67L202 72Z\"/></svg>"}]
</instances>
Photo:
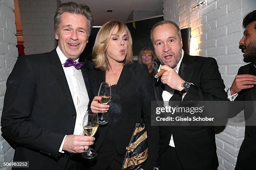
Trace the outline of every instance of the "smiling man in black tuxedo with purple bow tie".
<instances>
[{"instance_id":1,"label":"smiling man in black tuxedo with purple bow tie","mask_svg":"<svg viewBox=\"0 0 256 170\"><path fill-rule=\"evenodd\" d=\"M92 25L88 6L61 4L54 16L58 47L18 57L8 77L1 130L14 143L13 161L29 161L31 170L84 170L77 153L94 138L83 135L91 95L78 59Z\"/></svg>"}]
</instances>

